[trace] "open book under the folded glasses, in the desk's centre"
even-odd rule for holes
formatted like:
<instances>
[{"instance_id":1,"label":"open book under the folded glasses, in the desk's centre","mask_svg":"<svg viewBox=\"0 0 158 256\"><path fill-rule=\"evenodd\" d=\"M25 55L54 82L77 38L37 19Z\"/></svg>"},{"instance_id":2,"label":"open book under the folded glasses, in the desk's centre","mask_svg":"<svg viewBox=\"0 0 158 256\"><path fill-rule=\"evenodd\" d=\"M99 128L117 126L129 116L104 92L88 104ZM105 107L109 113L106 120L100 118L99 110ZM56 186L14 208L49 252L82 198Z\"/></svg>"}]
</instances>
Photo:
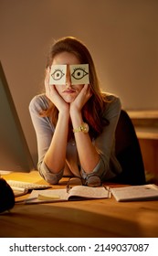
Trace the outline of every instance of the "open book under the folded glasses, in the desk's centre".
<instances>
[{"instance_id":1,"label":"open book under the folded glasses, in the desk's centre","mask_svg":"<svg viewBox=\"0 0 158 256\"><path fill-rule=\"evenodd\" d=\"M68 200L108 198L109 191L105 187L75 186L51 190L32 190L26 204L49 203Z\"/></svg>"}]
</instances>

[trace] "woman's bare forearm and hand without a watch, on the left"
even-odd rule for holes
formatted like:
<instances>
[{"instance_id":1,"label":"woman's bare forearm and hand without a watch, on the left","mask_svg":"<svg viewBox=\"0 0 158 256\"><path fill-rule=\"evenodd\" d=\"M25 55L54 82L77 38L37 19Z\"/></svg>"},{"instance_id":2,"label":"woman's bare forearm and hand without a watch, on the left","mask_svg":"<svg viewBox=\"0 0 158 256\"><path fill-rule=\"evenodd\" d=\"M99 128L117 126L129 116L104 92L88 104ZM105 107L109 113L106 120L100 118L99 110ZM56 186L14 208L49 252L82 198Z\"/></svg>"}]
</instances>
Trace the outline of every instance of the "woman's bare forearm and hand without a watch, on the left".
<instances>
[{"instance_id":1,"label":"woman's bare forearm and hand without a watch, on the left","mask_svg":"<svg viewBox=\"0 0 158 256\"><path fill-rule=\"evenodd\" d=\"M49 85L49 69L45 80L47 98L58 108L58 123L51 143L44 157L44 162L53 173L60 172L65 166L68 141L69 106L58 94L54 85Z\"/></svg>"}]
</instances>

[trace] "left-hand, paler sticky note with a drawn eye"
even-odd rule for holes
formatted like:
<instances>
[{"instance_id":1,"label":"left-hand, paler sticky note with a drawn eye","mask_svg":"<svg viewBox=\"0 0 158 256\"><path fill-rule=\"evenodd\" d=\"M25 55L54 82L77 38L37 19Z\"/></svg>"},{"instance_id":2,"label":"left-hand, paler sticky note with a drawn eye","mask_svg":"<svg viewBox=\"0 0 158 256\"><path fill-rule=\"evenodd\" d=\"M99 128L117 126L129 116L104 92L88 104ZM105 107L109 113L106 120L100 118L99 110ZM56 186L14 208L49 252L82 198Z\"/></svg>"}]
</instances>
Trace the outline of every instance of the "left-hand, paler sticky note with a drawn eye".
<instances>
[{"instance_id":1,"label":"left-hand, paler sticky note with a drawn eye","mask_svg":"<svg viewBox=\"0 0 158 256\"><path fill-rule=\"evenodd\" d=\"M67 65L52 65L50 70L49 84L65 84Z\"/></svg>"}]
</instances>

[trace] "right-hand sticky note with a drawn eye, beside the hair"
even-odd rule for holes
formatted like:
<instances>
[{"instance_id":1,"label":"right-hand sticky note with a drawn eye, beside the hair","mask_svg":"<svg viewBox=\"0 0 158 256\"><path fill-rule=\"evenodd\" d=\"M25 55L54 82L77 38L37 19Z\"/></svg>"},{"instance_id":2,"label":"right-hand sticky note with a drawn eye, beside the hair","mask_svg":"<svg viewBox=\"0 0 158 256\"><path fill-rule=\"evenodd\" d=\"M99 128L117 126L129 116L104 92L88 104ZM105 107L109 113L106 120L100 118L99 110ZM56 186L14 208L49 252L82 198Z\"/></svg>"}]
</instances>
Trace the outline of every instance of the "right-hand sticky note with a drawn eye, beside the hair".
<instances>
[{"instance_id":1,"label":"right-hand sticky note with a drawn eye, beside the hair","mask_svg":"<svg viewBox=\"0 0 158 256\"><path fill-rule=\"evenodd\" d=\"M70 65L71 84L90 83L89 64Z\"/></svg>"}]
</instances>

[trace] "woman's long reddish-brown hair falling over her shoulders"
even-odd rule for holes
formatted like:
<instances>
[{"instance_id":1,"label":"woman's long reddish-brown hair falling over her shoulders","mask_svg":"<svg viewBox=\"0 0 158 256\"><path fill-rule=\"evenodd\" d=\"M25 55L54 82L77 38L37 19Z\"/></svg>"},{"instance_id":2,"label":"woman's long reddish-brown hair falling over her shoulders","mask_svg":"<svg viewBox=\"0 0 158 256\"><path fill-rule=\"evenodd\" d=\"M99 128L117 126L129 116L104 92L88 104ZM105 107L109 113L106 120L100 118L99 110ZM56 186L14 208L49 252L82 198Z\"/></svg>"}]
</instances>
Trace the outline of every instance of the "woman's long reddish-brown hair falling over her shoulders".
<instances>
[{"instance_id":1,"label":"woman's long reddish-brown hair falling over her shoulders","mask_svg":"<svg viewBox=\"0 0 158 256\"><path fill-rule=\"evenodd\" d=\"M86 102L82 109L83 120L90 125L90 136L96 137L102 132L103 126L108 121L103 119L102 112L106 107L106 94L101 93L99 80L90 52L86 46L75 37L63 37L58 39L50 49L47 57L47 67L51 67L53 59L61 52L67 51L74 54L80 61L80 64L89 64L90 90L92 96ZM58 122L58 109L49 101L47 111L42 112L42 116L49 116L54 125ZM68 138L72 136L72 130L69 129Z\"/></svg>"}]
</instances>

